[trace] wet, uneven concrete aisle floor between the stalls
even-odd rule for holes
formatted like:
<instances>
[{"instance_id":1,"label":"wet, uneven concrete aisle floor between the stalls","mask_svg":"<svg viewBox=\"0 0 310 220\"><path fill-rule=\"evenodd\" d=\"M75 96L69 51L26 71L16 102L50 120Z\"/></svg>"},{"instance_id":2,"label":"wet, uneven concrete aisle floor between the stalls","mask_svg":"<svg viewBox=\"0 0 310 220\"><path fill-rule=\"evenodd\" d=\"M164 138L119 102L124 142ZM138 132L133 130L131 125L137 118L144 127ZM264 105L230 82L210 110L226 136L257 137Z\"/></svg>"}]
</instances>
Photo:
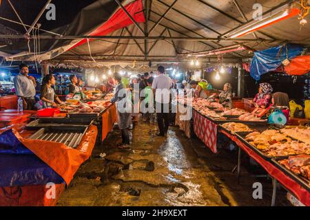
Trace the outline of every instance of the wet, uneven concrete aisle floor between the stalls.
<instances>
[{"instance_id":1,"label":"wet, uneven concrete aisle floor between the stalls","mask_svg":"<svg viewBox=\"0 0 310 220\"><path fill-rule=\"evenodd\" d=\"M237 184L231 173L236 151L214 155L177 126L168 137L156 137L156 131L140 120L131 131L132 148L118 149L121 134L114 129L103 146L96 145L57 206L270 206L271 179L253 177L264 172L247 164L247 157ZM252 196L255 182L262 184L262 199ZM276 205L289 206L285 197L279 188Z\"/></svg>"}]
</instances>

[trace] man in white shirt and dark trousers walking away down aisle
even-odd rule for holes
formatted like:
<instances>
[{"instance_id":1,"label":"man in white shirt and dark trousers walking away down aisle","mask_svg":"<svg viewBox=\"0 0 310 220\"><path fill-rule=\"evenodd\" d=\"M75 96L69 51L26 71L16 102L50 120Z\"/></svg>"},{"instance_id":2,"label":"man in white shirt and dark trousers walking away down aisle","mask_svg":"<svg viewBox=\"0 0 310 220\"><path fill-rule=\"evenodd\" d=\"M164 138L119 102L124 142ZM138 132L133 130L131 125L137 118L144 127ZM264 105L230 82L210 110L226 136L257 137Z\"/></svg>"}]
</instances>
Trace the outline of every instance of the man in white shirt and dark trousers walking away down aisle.
<instances>
[{"instance_id":1,"label":"man in white shirt and dark trousers walking away down aisle","mask_svg":"<svg viewBox=\"0 0 310 220\"><path fill-rule=\"evenodd\" d=\"M169 129L169 101L170 87L172 80L165 75L165 67L159 66L157 77L154 78L152 90L155 94L157 123L159 128L158 136L167 136Z\"/></svg>"}]
</instances>

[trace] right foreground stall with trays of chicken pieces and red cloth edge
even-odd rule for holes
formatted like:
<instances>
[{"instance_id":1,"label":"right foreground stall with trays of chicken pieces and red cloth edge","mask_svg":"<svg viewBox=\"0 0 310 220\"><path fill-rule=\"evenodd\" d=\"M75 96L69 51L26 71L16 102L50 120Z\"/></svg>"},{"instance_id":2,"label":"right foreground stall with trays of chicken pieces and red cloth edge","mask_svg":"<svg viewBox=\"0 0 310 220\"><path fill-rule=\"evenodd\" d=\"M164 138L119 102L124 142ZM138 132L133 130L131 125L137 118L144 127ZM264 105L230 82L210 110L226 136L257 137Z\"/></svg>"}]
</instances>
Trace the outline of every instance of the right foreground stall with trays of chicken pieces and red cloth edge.
<instances>
[{"instance_id":1,"label":"right foreground stall with trays of chicken pieces and red cloth edge","mask_svg":"<svg viewBox=\"0 0 310 220\"><path fill-rule=\"evenodd\" d=\"M264 168L269 176L273 178L273 197L271 205L274 206L276 201L276 189L277 182L279 182L288 192L291 192L302 204L305 206L310 206L310 172L309 165L307 165L307 160L310 159L309 156L309 146L303 144L304 139L302 140L299 136L298 141L291 142L291 130L274 130L265 128L260 129L262 133L255 131L256 133L250 131L242 130L239 132L227 131L224 127L219 129L220 133L225 134L232 141L236 143L236 146L239 148L238 152L238 178L240 175L240 155L241 150L247 153L249 157L253 158L262 168ZM304 130L309 130L304 128ZM282 132L283 131L283 132ZM308 132L308 131L307 131ZM248 133L248 135L245 135ZM252 138L255 135L256 138ZM260 135L260 136L258 136ZM296 136L298 137L298 136ZM270 138L270 139L269 139ZM250 142L254 140L254 142ZM262 146L263 144L258 144L262 140L267 140L268 146ZM278 141L286 141L282 144ZM302 141L301 141L302 140ZM273 144L272 144L273 143ZM257 144L257 145L256 145ZM266 142L265 142L266 144ZM269 150L270 149L270 150ZM302 170L302 172L300 172Z\"/></svg>"}]
</instances>

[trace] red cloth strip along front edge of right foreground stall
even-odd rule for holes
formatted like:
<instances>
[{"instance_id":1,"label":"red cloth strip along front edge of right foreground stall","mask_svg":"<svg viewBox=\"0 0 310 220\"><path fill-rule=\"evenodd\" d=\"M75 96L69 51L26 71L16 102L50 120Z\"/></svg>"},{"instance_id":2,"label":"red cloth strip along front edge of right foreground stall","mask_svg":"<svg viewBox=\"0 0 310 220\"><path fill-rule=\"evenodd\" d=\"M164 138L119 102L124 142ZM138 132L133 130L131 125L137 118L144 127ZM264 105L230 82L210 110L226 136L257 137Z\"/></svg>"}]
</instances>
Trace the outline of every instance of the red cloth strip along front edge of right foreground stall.
<instances>
[{"instance_id":1,"label":"red cloth strip along front edge of right foreground stall","mask_svg":"<svg viewBox=\"0 0 310 220\"><path fill-rule=\"evenodd\" d=\"M235 135L231 135L225 131L220 131L220 132L224 133L225 135L227 135L227 137L229 137L231 140L236 142L236 144L243 151L245 151L245 153L247 153L250 157L255 159L256 162L258 162L258 164L260 164L260 166L265 168L265 170L267 171L267 173L269 173L269 175L271 177L276 178L282 184L282 186L285 186L285 188L287 188L287 190L292 192L296 196L296 198L299 201L301 201L305 206L310 206L310 192L308 192L308 190L306 190L305 188L300 186L300 184L298 184L298 182L296 182L295 180L293 180L290 177L288 177L287 175L285 175L285 173L283 173L281 170L276 168L276 166L274 166L270 162L267 162L265 159L260 157L260 155L258 155L253 150L251 150L251 148L249 148L247 145L245 145Z\"/></svg>"}]
</instances>

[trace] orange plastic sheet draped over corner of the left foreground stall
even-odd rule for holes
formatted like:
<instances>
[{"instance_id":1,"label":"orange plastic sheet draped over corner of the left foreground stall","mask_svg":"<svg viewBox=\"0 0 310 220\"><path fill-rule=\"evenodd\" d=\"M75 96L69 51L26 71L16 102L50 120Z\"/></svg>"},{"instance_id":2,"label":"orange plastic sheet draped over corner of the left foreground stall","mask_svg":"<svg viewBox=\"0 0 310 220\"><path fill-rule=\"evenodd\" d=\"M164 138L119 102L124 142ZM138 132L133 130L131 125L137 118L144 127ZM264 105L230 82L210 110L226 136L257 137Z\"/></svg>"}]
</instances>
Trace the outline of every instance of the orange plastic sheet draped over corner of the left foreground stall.
<instances>
[{"instance_id":1,"label":"orange plastic sheet draped over corner of the left foreground stall","mask_svg":"<svg viewBox=\"0 0 310 220\"><path fill-rule=\"evenodd\" d=\"M12 129L12 131L25 147L63 177L67 185L70 184L81 164L92 154L98 134L97 127L91 125L79 146L70 148L61 143L26 139L16 129Z\"/></svg>"}]
</instances>

